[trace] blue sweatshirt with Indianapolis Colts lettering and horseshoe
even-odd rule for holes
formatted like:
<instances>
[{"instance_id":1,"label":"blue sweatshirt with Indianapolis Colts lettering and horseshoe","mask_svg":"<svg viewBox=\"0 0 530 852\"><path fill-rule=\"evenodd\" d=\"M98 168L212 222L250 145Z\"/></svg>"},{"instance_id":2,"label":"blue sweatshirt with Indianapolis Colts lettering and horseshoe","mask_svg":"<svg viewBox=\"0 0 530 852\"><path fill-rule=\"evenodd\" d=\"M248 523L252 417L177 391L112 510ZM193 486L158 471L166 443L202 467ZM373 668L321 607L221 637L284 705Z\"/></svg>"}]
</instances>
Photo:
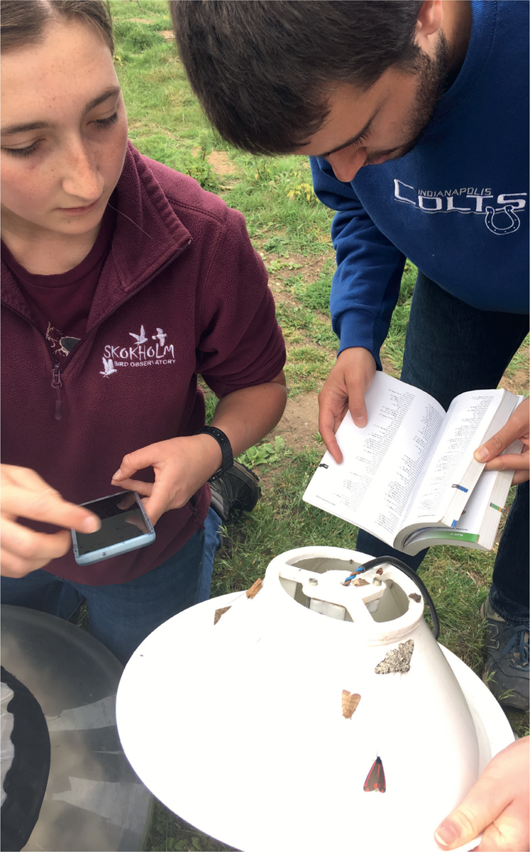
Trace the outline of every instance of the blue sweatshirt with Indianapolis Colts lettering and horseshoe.
<instances>
[{"instance_id":1,"label":"blue sweatshirt with Indianapolis Colts lettering and horseshoe","mask_svg":"<svg viewBox=\"0 0 530 852\"><path fill-rule=\"evenodd\" d=\"M471 9L464 65L411 153L351 183L311 158L314 191L337 210L339 351L365 347L379 366L406 257L475 308L527 313L528 3Z\"/></svg>"}]
</instances>

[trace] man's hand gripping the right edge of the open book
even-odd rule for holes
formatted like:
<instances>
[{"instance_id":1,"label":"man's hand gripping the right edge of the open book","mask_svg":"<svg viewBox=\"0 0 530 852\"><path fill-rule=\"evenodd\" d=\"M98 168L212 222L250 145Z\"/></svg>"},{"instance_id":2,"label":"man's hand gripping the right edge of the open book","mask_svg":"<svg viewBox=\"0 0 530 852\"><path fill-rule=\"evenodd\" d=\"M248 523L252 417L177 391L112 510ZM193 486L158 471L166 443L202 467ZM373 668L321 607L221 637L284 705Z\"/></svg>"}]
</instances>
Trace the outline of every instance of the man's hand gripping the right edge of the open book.
<instances>
[{"instance_id":1,"label":"man's hand gripping the right edge of the open book","mask_svg":"<svg viewBox=\"0 0 530 852\"><path fill-rule=\"evenodd\" d=\"M530 431L529 416L528 400L522 400L520 405L516 407L516 411L504 423L503 428L499 429L496 435L493 435L485 444L475 450L477 462L487 462L485 470L515 470L512 485L526 482L530 478L528 471L528 459L530 458L528 452L528 445L530 444L528 437ZM523 451L521 453L510 452L504 456L499 455L516 438L522 441Z\"/></svg>"}]
</instances>

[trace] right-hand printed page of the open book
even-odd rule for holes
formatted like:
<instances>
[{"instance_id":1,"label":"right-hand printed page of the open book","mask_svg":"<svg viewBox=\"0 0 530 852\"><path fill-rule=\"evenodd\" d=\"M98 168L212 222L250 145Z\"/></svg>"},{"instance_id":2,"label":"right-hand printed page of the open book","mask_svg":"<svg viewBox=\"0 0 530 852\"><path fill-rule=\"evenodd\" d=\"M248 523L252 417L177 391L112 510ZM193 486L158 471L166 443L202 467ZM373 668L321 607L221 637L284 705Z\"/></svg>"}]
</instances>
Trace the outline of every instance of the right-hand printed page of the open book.
<instances>
[{"instance_id":1,"label":"right-hand printed page of the open book","mask_svg":"<svg viewBox=\"0 0 530 852\"><path fill-rule=\"evenodd\" d=\"M470 464L473 451L481 443L477 435L484 432L482 424L489 423L503 395L502 390L475 390L452 400L429 467L412 503L408 523L441 521L451 489L466 491L460 478Z\"/></svg>"}]
</instances>

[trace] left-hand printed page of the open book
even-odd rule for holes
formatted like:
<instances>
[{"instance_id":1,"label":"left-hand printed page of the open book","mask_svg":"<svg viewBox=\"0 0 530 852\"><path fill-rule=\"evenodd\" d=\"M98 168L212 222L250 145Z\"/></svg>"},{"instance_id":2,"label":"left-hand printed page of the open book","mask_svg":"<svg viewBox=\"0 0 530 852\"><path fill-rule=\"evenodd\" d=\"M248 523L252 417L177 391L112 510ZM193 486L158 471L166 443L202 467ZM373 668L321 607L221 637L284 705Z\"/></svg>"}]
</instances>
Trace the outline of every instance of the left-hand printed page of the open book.
<instances>
[{"instance_id":1,"label":"left-hand printed page of the open book","mask_svg":"<svg viewBox=\"0 0 530 852\"><path fill-rule=\"evenodd\" d=\"M445 412L429 394L380 371L366 409L364 429L344 417L337 430L343 463L326 452L303 498L391 544Z\"/></svg>"}]
</instances>

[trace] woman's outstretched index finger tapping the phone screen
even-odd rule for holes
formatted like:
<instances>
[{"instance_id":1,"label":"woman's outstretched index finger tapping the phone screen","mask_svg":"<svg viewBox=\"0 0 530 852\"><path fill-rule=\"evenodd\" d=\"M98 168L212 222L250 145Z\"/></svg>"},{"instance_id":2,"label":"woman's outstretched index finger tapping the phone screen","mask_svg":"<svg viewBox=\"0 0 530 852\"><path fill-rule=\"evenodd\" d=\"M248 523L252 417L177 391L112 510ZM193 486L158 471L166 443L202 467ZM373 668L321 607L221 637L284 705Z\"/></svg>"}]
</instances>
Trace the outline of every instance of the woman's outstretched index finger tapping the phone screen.
<instances>
[{"instance_id":1,"label":"woman's outstretched index finger tapping the phone screen","mask_svg":"<svg viewBox=\"0 0 530 852\"><path fill-rule=\"evenodd\" d=\"M34 470L3 465L2 514L72 527L78 533L95 533L101 521L89 509L68 503Z\"/></svg>"}]
</instances>

